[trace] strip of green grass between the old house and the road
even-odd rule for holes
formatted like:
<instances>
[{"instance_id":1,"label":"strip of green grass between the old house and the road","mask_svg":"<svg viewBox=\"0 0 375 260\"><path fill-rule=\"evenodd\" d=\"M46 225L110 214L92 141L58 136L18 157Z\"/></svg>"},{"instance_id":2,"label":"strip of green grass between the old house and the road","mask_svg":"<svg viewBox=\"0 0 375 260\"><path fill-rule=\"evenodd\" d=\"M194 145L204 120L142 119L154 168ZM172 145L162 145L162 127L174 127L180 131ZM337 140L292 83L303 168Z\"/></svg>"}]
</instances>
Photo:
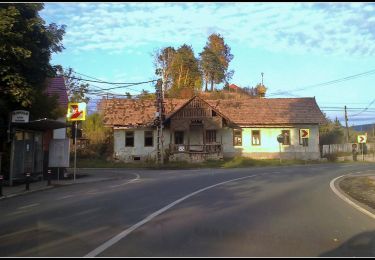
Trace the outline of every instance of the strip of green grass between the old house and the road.
<instances>
[{"instance_id":1,"label":"strip of green grass between the old house and the road","mask_svg":"<svg viewBox=\"0 0 375 260\"><path fill-rule=\"evenodd\" d=\"M72 163L71 161L71 167ZM243 167L259 167L259 166L286 166L298 164L316 164L323 163L321 161L304 161L304 160L282 160L280 164L279 159L251 159L246 157L235 157L231 159L224 159L221 161L210 160L202 163L188 163L188 162L168 162L163 166L157 165L154 162L111 162L103 159L79 159L77 158L77 168L146 168L146 169L196 169L196 168L243 168Z\"/></svg>"}]
</instances>

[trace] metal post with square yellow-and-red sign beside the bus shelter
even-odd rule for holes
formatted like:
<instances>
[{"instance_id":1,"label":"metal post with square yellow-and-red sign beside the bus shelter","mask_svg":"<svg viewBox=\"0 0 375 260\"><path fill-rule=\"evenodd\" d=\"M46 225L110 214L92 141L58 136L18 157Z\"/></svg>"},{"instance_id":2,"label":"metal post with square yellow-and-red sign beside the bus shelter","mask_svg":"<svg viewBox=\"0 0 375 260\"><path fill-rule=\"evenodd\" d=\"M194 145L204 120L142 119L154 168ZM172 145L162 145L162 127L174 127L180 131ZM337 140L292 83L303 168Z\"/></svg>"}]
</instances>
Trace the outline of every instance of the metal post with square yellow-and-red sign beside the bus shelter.
<instances>
[{"instance_id":1,"label":"metal post with square yellow-and-red sign beside the bus shelter","mask_svg":"<svg viewBox=\"0 0 375 260\"><path fill-rule=\"evenodd\" d=\"M74 170L73 178L76 180L76 166L77 166L77 122L86 119L86 103L69 103L68 113L66 114L68 121L75 121L74 129Z\"/></svg>"}]
</instances>

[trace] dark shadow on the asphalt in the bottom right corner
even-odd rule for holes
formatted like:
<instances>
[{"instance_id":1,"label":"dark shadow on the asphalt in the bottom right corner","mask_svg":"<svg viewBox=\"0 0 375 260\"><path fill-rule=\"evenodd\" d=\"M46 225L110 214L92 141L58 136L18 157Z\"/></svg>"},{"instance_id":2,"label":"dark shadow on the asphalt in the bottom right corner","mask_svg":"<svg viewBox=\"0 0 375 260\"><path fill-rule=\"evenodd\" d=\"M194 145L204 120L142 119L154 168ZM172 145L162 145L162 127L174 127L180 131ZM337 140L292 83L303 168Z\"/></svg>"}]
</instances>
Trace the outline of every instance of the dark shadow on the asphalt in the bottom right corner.
<instances>
[{"instance_id":1,"label":"dark shadow on the asphalt in the bottom right corner","mask_svg":"<svg viewBox=\"0 0 375 260\"><path fill-rule=\"evenodd\" d=\"M375 256L375 231L363 232L350 238L341 246L325 252L323 257L373 257Z\"/></svg>"}]
</instances>

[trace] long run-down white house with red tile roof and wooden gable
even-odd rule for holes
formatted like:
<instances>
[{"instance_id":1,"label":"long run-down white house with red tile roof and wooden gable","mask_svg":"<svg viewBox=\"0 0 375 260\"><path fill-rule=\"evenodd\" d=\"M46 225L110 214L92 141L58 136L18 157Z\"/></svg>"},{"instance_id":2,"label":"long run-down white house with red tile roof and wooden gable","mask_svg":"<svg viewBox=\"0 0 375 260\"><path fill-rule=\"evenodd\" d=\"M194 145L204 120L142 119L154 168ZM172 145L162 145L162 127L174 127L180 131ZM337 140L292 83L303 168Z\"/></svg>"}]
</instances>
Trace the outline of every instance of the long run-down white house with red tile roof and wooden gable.
<instances>
[{"instance_id":1,"label":"long run-down white house with red tile roof and wooden gable","mask_svg":"<svg viewBox=\"0 0 375 260\"><path fill-rule=\"evenodd\" d=\"M201 162L235 156L256 159L319 159L315 98L165 99L162 151L165 160ZM114 158L155 160L157 124L153 99L104 99L104 124L113 129ZM308 129L302 139L301 129ZM280 144L278 135L285 138Z\"/></svg>"}]
</instances>

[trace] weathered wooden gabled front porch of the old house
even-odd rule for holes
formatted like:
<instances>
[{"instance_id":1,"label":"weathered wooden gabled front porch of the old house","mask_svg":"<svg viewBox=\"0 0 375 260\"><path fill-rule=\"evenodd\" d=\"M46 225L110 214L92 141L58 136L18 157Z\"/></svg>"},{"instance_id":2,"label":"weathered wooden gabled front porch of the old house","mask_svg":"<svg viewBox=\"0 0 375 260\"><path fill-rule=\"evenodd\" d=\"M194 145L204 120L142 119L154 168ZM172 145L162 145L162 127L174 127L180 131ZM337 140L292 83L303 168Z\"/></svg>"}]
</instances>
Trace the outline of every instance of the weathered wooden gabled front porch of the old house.
<instances>
[{"instance_id":1,"label":"weathered wooden gabled front porch of the old house","mask_svg":"<svg viewBox=\"0 0 375 260\"><path fill-rule=\"evenodd\" d=\"M201 162L223 158L219 131L226 120L210 105L194 98L165 122L170 130L169 160Z\"/></svg>"}]
</instances>

